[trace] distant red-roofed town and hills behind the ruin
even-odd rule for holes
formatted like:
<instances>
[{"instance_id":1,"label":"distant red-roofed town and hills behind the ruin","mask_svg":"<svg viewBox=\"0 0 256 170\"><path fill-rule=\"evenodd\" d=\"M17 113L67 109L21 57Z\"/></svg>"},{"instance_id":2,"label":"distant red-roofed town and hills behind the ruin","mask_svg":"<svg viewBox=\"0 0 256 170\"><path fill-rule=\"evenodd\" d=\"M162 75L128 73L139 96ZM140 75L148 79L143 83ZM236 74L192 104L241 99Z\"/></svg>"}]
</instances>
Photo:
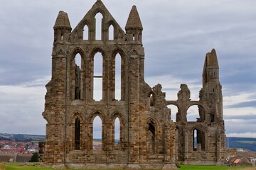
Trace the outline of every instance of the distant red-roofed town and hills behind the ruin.
<instances>
[{"instance_id":1,"label":"distant red-roofed town and hills behind the ruin","mask_svg":"<svg viewBox=\"0 0 256 170\"><path fill-rule=\"evenodd\" d=\"M45 135L25 135L0 133L0 162L29 162L35 152L39 152L38 143L46 140ZM118 145L118 140L115 140ZM237 148L237 155L227 157L227 162L236 162L246 157L248 162L256 162L256 138L228 137L227 147ZM101 140L93 140L93 149L101 150Z\"/></svg>"}]
</instances>

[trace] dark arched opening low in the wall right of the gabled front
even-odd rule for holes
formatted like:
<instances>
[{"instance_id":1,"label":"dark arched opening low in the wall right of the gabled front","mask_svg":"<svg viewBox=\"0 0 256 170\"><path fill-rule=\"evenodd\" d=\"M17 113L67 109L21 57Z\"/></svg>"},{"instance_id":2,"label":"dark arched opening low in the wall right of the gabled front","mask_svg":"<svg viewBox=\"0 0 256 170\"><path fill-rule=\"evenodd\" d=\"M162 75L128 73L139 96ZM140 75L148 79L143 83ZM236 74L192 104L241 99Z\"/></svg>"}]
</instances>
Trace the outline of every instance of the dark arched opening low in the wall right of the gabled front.
<instances>
[{"instance_id":1,"label":"dark arched opening low in the wall right of the gabled front","mask_svg":"<svg viewBox=\"0 0 256 170\"><path fill-rule=\"evenodd\" d=\"M148 132L147 132L147 148L148 152L153 154L156 152L155 150L155 140L156 140L156 128L153 121L150 121L148 124Z\"/></svg>"}]
</instances>

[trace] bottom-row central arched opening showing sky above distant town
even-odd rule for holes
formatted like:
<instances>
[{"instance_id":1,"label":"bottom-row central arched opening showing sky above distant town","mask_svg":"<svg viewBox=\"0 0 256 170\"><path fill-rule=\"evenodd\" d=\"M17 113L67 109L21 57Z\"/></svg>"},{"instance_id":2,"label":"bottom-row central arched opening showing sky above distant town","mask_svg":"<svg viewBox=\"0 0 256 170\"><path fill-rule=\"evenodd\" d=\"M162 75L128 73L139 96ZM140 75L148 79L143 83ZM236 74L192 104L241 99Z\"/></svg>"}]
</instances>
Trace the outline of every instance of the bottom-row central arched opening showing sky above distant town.
<instances>
[{"instance_id":1,"label":"bottom-row central arched opening showing sky above distant town","mask_svg":"<svg viewBox=\"0 0 256 170\"><path fill-rule=\"evenodd\" d=\"M101 150L102 149L102 120L100 116L96 116L93 120L93 130L92 130L92 149Z\"/></svg>"}]
</instances>

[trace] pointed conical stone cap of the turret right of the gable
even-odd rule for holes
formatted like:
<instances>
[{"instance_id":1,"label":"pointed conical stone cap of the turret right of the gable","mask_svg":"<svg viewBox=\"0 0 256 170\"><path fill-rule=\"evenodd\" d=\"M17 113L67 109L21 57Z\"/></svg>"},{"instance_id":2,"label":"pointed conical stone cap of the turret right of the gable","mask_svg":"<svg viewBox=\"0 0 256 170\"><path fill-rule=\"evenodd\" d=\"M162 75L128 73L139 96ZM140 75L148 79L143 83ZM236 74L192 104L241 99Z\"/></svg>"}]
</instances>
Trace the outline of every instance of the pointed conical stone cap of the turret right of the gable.
<instances>
[{"instance_id":1,"label":"pointed conical stone cap of the turret right of the gable","mask_svg":"<svg viewBox=\"0 0 256 170\"><path fill-rule=\"evenodd\" d=\"M136 6L132 6L132 10L129 13L129 18L128 18L127 24L125 26L125 30L134 29L134 28L143 30L142 22L139 18L139 13L137 11Z\"/></svg>"}]
</instances>

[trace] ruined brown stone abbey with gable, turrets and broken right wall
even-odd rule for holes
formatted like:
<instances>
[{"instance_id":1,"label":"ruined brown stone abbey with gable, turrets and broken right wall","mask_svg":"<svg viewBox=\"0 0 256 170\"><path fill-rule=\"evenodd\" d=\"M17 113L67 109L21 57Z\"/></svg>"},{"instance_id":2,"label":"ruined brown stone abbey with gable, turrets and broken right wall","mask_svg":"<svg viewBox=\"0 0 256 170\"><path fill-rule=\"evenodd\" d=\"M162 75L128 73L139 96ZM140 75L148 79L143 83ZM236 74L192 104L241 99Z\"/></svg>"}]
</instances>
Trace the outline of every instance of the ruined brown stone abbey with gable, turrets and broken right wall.
<instances>
[{"instance_id":1,"label":"ruined brown stone abbey with gable, turrets and broken right wall","mask_svg":"<svg viewBox=\"0 0 256 170\"><path fill-rule=\"evenodd\" d=\"M101 38L96 39L97 13L102 14ZM113 38L110 38L110 28ZM221 164L225 152L222 92L215 50L207 53L200 100L191 101L181 84L176 101L166 101L161 85L144 81L142 23L136 6L125 32L102 1L92 6L73 30L68 14L55 21L52 79L46 85L46 164L69 168L175 169L184 164ZM95 74L95 56L102 57L102 73ZM80 55L80 58L78 58ZM116 60L120 57L120 98L116 91ZM81 60L80 66L76 64ZM102 97L95 100L96 79ZM178 113L167 108L175 105ZM186 120L190 106L200 118ZM176 122L171 120L176 114ZM102 149L94 150L93 120L102 120ZM119 119L119 144L114 144L114 121ZM197 137L196 137L197 136ZM197 139L196 139L197 138ZM196 143L195 143L196 142Z\"/></svg>"}]
</instances>

